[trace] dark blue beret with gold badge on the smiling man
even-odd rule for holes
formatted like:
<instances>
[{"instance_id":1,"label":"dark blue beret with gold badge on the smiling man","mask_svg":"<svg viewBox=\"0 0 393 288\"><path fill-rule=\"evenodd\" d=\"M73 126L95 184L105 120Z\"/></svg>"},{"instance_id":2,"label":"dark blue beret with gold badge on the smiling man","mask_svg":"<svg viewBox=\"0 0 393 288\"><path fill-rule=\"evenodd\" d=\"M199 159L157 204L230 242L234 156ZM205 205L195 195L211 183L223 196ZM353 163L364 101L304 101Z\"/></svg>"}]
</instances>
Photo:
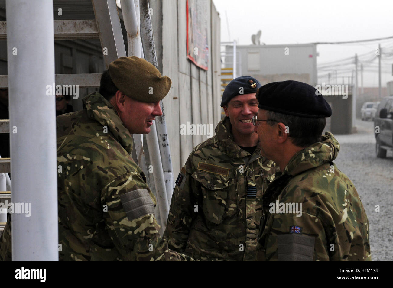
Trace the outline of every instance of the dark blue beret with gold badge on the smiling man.
<instances>
[{"instance_id":1,"label":"dark blue beret with gold badge on the smiling man","mask_svg":"<svg viewBox=\"0 0 393 288\"><path fill-rule=\"evenodd\" d=\"M226 85L224 93L222 93L221 107L227 105L237 95L256 93L261 86L261 83L251 76L241 76L233 79Z\"/></svg>"}]
</instances>

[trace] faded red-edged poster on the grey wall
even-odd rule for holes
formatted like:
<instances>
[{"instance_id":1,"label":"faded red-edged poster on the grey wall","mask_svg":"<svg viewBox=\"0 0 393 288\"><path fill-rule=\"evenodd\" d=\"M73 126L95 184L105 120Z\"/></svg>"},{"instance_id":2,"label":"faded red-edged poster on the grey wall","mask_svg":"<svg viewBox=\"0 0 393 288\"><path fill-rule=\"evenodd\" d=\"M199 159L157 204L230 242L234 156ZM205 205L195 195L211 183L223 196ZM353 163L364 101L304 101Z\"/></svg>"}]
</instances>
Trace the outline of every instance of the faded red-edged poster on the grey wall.
<instances>
[{"instance_id":1,"label":"faded red-edged poster on the grey wall","mask_svg":"<svg viewBox=\"0 0 393 288\"><path fill-rule=\"evenodd\" d=\"M187 58L208 70L208 0L187 0Z\"/></svg>"}]
</instances>

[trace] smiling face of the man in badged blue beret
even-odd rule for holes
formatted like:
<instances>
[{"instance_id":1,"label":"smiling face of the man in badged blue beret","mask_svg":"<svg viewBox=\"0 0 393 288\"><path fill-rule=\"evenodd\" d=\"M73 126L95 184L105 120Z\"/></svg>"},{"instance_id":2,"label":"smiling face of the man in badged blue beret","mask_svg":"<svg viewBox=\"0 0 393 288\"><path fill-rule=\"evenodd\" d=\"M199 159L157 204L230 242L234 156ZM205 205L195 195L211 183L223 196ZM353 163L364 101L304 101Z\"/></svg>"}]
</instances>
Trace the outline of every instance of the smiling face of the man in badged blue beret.
<instances>
[{"instance_id":1,"label":"smiling face of the man in badged blue beret","mask_svg":"<svg viewBox=\"0 0 393 288\"><path fill-rule=\"evenodd\" d=\"M258 100L255 98L255 93L233 97L224 106L224 112L230 119L233 134L245 136L254 133L251 118L258 112Z\"/></svg>"}]
</instances>

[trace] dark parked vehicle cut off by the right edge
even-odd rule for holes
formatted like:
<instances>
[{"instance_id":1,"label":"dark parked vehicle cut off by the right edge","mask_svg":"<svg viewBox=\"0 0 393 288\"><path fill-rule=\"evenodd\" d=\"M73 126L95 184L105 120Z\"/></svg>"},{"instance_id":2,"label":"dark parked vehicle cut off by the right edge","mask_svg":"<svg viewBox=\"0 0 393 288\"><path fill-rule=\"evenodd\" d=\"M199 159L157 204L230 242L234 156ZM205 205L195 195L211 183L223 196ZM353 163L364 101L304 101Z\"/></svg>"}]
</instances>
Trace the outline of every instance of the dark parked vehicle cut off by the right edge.
<instances>
[{"instance_id":1,"label":"dark parked vehicle cut off by the right edge","mask_svg":"<svg viewBox=\"0 0 393 288\"><path fill-rule=\"evenodd\" d=\"M381 100L374 119L374 127L376 156L385 158L386 152L393 150L393 96Z\"/></svg>"}]
</instances>

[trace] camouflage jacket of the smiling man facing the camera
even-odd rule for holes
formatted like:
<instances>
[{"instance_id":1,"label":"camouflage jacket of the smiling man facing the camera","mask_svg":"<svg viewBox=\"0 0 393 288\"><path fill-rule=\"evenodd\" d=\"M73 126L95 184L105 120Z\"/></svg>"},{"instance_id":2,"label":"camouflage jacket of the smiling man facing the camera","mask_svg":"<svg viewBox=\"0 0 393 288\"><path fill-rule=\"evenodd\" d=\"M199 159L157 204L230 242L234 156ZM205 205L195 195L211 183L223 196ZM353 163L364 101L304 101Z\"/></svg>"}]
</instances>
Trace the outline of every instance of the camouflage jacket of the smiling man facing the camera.
<instances>
[{"instance_id":1,"label":"camouflage jacket of the smiling man facing the camera","mask_svg":"<svg viewBox=\"0 0 393 288\"><path fill-rule=\"evenodd\" d=\"M255 260L262 195L275 166L259 149L251 155L235 144L229 119L215 132L181 169L164 238L195 260Z\"/></svg>"}]
</instances>

